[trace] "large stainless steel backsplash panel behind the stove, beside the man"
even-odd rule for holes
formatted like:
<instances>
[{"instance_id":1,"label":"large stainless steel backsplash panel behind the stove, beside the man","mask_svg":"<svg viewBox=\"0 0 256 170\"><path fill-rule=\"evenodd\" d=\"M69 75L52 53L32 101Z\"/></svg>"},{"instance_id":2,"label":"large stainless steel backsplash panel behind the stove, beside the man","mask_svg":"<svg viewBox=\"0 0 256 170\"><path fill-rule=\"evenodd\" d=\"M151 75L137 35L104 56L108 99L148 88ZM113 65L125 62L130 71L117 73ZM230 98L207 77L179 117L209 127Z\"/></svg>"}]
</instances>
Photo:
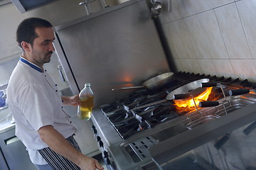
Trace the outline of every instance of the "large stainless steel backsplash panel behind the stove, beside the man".
<instances>
[{"instance_id":1,"label":"large stainless steel backsplash panel behind the stove, beside the man","mask_svg":"<svg viewBox=\"0 0 256 170\"><path fill-rule=\"evenodd\" d=\"M113 88L141 85L169 72L146 1L127 1L55 30L55 48L70 88L78 94L90 82L95 107L131 93Z\"/></svg>"}]
</instances>

